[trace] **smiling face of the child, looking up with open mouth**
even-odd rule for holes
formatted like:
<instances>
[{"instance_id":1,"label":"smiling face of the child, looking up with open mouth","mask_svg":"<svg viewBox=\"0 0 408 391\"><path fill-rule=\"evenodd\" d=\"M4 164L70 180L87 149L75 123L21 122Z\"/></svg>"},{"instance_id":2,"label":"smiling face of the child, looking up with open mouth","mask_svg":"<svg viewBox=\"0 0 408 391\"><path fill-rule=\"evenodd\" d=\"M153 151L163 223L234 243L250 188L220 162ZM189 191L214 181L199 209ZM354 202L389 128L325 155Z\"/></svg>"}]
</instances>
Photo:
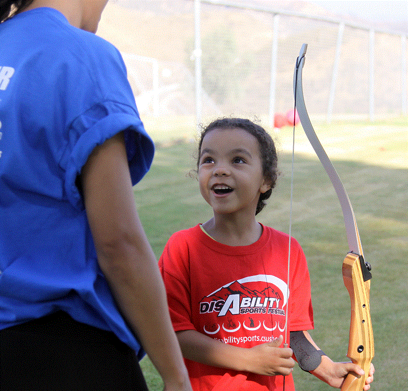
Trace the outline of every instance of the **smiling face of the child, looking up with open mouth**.
<instances>
[{"instance_id":1,"label":"smiling face of the child, looking up with open mouth","mask_svg":"<svg viewBox=\"0 0 408 391\"><path fill-rule=\"evenodd\" d=\"M254 216L260 194L270 189L256 137L243 129L209 131L201 144L198 181L214 214Z\"/></svg>"}]
</instances>

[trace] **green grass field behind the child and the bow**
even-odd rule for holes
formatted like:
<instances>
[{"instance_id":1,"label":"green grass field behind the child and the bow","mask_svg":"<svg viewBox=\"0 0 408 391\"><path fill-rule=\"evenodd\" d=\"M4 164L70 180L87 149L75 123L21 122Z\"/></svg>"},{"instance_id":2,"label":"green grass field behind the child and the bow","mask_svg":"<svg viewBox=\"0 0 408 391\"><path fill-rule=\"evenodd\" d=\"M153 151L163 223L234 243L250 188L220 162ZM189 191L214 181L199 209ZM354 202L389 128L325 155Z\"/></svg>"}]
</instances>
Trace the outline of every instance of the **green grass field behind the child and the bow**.
<instances>
[{"instance_id":1,"label":"green grass field behind the child and the bow","mask_svg":"<svg viewBox=\"0 0 408 391\"><path fill-rule=\"evenodd\" d=\"M316 126L319 139L349 195L365 258L372 265L370 307L374 331L372 390L408 389L408 147L406 118ZM276 133L281 176L259 221L289 231L291 129ZM294 236L308 259L318 346L333 360L346 360L350 299L341 265L348 251L339 201L300 126L296 128ZM194 130L192 130L194 133ZM157 255L179 229L205 222L211 209L202 200L194 143L157 149L154 164L135 187L138 211ZM142 367L151 391L163 383L149 358ZM332 389L296 367L297 391Z\"/></svg>"}]
</instances>

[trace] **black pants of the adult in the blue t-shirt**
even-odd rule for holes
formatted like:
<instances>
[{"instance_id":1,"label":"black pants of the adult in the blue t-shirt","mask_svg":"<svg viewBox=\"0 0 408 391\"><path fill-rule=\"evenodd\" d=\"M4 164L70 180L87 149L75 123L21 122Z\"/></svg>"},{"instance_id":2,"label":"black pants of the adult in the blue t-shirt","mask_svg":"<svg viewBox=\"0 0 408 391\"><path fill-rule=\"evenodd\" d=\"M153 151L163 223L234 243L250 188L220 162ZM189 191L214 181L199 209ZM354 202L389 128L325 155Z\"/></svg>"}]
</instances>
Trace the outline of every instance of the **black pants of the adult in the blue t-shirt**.
<instances>
[{"instance_id":1,"label":"black pants of the adult in the blue t-shirt","mask_svg":"<svg viewBox=\"0 0 408 391\"><path fill-rule=\"evenodd\" d=\"M1 391L147 391L133 350L63 311L0 331Z\"/></svg>"}]
</instances>

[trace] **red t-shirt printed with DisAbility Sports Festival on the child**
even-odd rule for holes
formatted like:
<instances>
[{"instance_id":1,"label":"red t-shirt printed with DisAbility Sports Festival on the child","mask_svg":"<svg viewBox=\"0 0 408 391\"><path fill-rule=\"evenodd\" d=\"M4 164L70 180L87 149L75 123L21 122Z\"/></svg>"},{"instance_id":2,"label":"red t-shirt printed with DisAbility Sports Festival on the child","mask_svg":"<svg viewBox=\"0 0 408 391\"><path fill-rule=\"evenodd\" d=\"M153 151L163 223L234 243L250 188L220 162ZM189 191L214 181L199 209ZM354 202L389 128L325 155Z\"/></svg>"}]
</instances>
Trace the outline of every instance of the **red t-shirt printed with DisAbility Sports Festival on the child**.
<instances>
[{"instance_id":1,"label":"red t-shirt printed with DisAbility Sports Festival on the child","mask_svg":"<svg viewBox=\"0 0 408 391\"><path fill-rule=\"evenodd\" d=\"M199 225L171 236L159 266L174 330L196 330L242 348L313 329L310 278L303 251L289 236L263 226L249 246L216 242ZM289 333L288 333L289 341ZM185 360L194 391L281 390L283 376L262 376ZM214 388L216 387L216 388ZM292 375L285 389L294 390Z\"/></svg>"}]
</instances>

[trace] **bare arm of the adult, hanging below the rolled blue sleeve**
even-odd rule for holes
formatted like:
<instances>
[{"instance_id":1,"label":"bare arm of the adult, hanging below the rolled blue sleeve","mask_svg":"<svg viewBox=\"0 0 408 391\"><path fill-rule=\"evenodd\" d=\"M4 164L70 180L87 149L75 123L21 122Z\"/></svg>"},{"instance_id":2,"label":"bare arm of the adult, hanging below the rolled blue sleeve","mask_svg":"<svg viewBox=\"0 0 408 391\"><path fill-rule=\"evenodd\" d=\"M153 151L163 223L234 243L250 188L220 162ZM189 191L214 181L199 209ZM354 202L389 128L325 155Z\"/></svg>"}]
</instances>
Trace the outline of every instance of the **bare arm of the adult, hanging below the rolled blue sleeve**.
<instances>
[{"instance_id":1,"label":"bare arm of the adult, hanging below the rolled blue sleeve","mask_svg":"<svg viewBox=\"0 0 408 391\"><path fill-rule=\"evenodd\" d=\"M122 314L166 390L190 391L157 260L136 210L122 133L94 149L81 182L99 266Z\"/></svg>"}]
</instances>

